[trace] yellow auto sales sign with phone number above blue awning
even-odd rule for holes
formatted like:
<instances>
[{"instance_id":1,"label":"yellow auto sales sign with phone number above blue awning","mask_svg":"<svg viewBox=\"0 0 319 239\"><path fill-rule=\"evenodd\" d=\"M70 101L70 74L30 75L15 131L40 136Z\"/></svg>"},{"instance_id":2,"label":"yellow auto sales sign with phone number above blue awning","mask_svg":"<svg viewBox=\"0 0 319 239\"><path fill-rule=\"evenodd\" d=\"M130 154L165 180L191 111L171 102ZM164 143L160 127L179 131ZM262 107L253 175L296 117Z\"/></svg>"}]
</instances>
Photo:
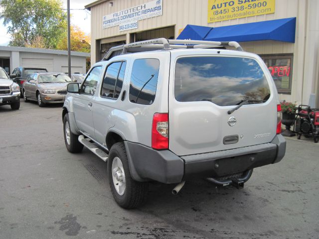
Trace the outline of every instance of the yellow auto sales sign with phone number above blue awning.
<instances>
[{"instance_id":1,"label":"yellow auto sales sign with phone number above blue awning","mask_svg":"<svg viewBox=\"0 0 319 239\"><path fill-rule=\"evenodd\" d=\"M207 22L270 14L275 0L208 0Z\"/></svg>"}]
</instances>

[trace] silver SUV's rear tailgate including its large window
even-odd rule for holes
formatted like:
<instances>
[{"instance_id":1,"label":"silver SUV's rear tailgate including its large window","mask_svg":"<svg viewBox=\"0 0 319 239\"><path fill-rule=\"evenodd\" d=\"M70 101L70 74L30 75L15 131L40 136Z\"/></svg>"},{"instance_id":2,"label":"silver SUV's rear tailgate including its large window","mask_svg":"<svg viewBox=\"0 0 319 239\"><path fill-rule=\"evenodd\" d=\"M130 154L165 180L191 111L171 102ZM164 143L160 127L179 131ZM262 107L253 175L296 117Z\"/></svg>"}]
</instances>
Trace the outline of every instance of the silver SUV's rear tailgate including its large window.
<instances>
[{"instance_id":1,"label":"silver SUV's rear tailgate including its large window","mask_svg":"<svg viewBox=\"0 0 319 239\"><path fill-rule=\"evenodd\" d=\"M262 61L233 51L189 52L171 53L169 149L189 155L270 142L277 97Z\"/></svg>"}]
</instances>

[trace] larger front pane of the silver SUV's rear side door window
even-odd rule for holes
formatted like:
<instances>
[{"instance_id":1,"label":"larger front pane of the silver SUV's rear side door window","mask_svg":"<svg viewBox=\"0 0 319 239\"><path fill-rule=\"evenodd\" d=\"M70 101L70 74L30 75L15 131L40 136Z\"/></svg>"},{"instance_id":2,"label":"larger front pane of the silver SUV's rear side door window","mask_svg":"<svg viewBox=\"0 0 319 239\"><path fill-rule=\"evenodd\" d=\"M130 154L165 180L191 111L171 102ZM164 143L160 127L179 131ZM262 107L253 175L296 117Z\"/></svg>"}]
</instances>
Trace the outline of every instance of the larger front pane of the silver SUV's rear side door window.
<instances>
[{"instance_id":1,"label":"larger front pane of the silver SUV's rear side door window","mask_svg":"<svg viewBox=\"0 0 319 239\"><path fill-rule=\"evenodd\" d=\"M115 98L114 91L115 85L117 84L117 79L119 77L119 71L121 68L122 62L113 62L111 63L105 72L105 77L103 80L101 96L108 98Z\"/></svg>"}]
</instances>

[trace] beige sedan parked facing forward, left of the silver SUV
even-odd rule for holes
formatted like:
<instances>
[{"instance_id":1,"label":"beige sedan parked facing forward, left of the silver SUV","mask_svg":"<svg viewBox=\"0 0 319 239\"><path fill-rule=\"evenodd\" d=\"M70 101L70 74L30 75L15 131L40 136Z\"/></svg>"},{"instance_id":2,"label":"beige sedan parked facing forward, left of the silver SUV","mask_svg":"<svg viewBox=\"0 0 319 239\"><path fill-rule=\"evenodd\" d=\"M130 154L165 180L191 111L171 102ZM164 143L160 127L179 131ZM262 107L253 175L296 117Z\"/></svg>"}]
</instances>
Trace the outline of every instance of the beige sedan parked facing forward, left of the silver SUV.
<instances>
[{"instance_id":1,"label":"beige sedan parked facing forward, left of the silver SUV","mask_svg":"<svg viewBox=\"0 0 319 239\"><path fill-rule=\"evenodd\" d=\"M34 73L23 83L24 102L37 101L39 107L47 103L63 103L67 84L72 80L64 73Z\"/></svg>"}]
</instances>

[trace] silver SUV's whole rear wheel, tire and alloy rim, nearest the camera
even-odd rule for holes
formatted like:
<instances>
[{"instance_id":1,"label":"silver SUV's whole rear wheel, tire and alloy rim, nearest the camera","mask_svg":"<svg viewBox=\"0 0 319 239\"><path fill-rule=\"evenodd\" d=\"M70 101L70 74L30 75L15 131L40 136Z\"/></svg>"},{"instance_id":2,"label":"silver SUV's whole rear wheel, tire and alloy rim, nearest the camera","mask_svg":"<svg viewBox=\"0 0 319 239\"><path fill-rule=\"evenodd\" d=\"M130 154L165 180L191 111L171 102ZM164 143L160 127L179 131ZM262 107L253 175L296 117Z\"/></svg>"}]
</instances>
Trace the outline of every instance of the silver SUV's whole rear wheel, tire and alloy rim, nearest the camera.
<instances>
[{"instance_id":1,"label":"silver SUV's whole rear wheel, tire and alloy rim, nearest the camera","mask_svg":"<svg viewBox=\"0 0 319 239\"><path fill-rule=\"evenodd\" d=\"M123 142L115 143L108 158L108 178L116 203L125 209L137 208L147 199L149 184L131 177Z\"/></svg>"}]
</instances>

